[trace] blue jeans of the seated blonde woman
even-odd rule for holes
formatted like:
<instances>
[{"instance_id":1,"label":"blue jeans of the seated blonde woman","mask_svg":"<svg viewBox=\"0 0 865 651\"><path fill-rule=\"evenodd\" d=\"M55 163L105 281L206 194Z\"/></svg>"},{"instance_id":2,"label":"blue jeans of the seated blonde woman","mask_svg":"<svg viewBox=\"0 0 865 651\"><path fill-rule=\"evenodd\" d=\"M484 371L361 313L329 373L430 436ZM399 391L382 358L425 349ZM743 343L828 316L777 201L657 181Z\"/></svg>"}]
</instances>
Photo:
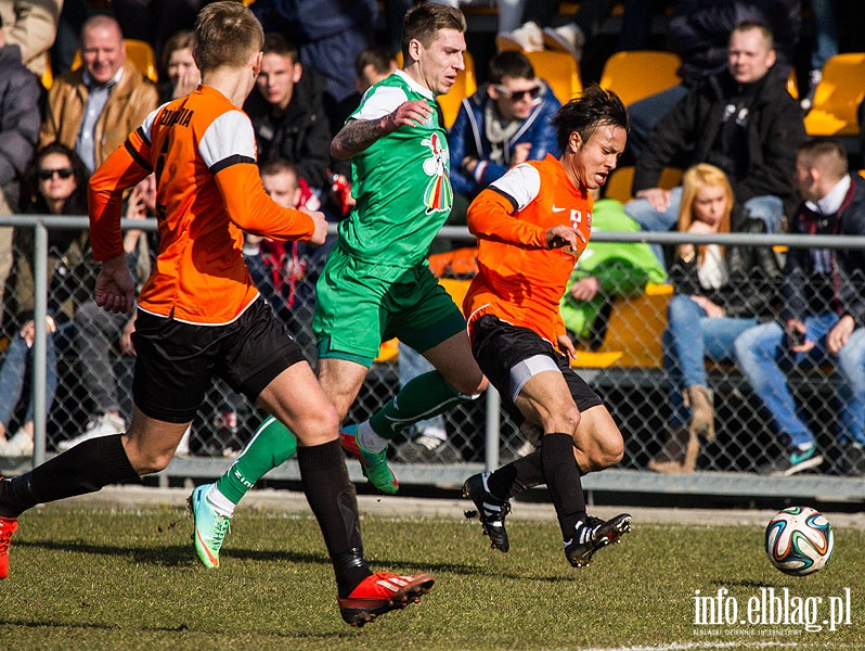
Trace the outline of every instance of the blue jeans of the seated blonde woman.
<instances>
[{"instance_id":1,"label":"blue jeans of the seated blonde woman","mask_svg":"<svg viewBox=\"0 0 865 651\"><path fill-rule=\"evenodd\" d=\"M706 359L728 361L734 357L736 337L757 326L756 318L711 318L690 296L676 294L667 308L663 369L670 382L670 424L685 425L688 411L683 393L688 386L708 386ZM700 335L695 335L700 333Z\"/></svg>"}]
</instances>

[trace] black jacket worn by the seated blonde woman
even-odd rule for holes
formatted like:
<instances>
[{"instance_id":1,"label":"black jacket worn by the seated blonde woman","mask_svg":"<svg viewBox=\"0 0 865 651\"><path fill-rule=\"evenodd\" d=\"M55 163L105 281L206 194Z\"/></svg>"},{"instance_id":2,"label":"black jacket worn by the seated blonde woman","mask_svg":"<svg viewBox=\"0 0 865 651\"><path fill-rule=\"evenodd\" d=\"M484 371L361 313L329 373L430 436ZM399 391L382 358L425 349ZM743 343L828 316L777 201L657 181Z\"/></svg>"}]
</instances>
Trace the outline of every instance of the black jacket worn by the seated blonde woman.
<instances>
[{"instance_id":1,"label":"black jacket worn by the seated blonde woman","mask_svg":"<svg viewBox=\"0 0 865 651\"><path fill-rule=\"evenodd\" d=\"M762 219L740 217L734 226L737 233L765 233ZM705 290L697 277L697 260L676 259L670 267L670 282L676 294L706 296L724 308L728 317L773 316L772 299L777 296L780 267L769 246L727 246L725 250L728 281L718 290Z\"/></svg>"}]
</instances>

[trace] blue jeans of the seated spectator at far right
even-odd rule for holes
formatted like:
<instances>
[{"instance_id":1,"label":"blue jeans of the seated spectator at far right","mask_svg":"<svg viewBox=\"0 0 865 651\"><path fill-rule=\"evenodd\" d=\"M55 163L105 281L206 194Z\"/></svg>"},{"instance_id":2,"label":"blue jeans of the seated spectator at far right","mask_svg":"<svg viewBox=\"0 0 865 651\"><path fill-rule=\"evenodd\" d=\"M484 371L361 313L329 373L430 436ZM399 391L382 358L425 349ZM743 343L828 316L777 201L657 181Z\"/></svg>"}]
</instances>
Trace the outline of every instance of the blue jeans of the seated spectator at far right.
<instances>
[{"instance_id":1,"label":"blue jeans of the seated spectator at far right","mask_svg":"<svg viewBox=\"0 0 865 651\"><path fill-rule=\"evenodd\" d=\"M793 447L805 447L815 438L799 414L785 373L793 366L825 361L831 361L836 369L839 441L865 444L865 328L854 330L847 345L832 357L826 350L826 335L838 320L834 312L805 318L805 339L816 342L808 354L789 350L784 329L777 322L753 328L736 340L739 369L772 414L778 431L790 437Z\"/></svg>"}]
</instances>

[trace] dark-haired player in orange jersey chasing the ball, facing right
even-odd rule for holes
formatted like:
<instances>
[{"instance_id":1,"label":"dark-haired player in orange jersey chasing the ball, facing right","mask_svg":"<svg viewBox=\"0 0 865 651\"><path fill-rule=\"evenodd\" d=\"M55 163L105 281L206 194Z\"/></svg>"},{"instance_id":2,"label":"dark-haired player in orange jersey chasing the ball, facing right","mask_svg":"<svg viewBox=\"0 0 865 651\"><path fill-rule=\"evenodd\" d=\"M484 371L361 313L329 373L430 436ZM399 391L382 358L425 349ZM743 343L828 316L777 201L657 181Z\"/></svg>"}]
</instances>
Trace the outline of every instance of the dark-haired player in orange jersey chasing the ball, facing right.
<instances>
[{"instance_id":1,"label":"dark-haired player in orange jersey chasing the ball, facing right","mask_svg":"<svg viewBox=\"0 0 865 651\"><path fill-rule=\"evenodd\" d=\"M552 124L561 157L513 167L468 208L479 272L463 303L478 366L540 444L493 473L469 477L463 495L475 502L492 547L507 551L509 498L546 484L565 556L579 567L628 533L631 516L604 522L585 512L580 475L618 463L622 435L570 367L576 353L558 304L592 230L590 191L604 184L624 151L628 113L616 93L592 86Z\"/></svg>"}]
</instances>

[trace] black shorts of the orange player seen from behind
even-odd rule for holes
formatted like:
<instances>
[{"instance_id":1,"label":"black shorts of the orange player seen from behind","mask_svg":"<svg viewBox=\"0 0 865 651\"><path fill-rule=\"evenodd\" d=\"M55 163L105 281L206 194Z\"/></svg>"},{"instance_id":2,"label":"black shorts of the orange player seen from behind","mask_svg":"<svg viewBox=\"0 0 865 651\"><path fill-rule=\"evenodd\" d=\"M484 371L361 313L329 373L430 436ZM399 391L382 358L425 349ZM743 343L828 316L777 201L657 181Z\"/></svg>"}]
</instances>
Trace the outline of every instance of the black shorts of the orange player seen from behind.
<instances>
[{"instance_id":1,"label":"black shorts of the orange player seen from behind","mask_svg":"<svg viewBox=\"0 0 865 651\"><path fill-rule=\"evenodd\" d=\"M305 361L260 297L225 326L183 323L139 310L132 343L135 407L170 423L195 417L215 378L255 403L276 375Z\"/></svg>"}]
</instances>

